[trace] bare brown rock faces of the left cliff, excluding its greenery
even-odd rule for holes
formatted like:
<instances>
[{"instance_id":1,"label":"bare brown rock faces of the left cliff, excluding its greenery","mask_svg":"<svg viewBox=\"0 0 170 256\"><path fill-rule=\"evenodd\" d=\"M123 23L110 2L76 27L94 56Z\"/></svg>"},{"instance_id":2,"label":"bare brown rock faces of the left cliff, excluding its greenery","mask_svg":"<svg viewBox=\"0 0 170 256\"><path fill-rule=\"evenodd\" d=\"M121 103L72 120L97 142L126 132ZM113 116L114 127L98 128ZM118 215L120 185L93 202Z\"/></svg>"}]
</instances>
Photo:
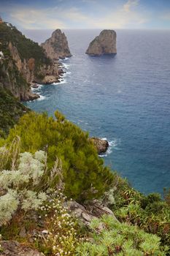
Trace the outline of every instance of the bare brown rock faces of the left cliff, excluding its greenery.
<instances>
[{"instance_id":1,"label":"bare brown rock faces of the left cliff, excluding its greenery","mask_svg":"<svg viewBox=\"0 0 170 256\"><path fill-rule=\"evenodd\" d=\"M50 83L58 83L59 78L62 75L62 71L60 69L60 74L58 73L58 62L51 61L50 64L41 64L39 67L36 67L36 61L34 58L30 59L20 59L20 55L18 53L18 49L12 45L12 42L9 42L9 51L11 53L13 61L9 62L8 69L16 69L25 79L25 86L12 86L12 83L15 83L16 78L12 77L12 73L10 72L7 75L7 86L6 88L12 92L12 94L20 100L34 100L38 99L38 94L31 93L31 84L34 83L42 83L42 84L50 84ZM4 73L8 74L8 69L4 71ZM17 81L16 81L17 83Z\"/></svg>"}]
</instances>

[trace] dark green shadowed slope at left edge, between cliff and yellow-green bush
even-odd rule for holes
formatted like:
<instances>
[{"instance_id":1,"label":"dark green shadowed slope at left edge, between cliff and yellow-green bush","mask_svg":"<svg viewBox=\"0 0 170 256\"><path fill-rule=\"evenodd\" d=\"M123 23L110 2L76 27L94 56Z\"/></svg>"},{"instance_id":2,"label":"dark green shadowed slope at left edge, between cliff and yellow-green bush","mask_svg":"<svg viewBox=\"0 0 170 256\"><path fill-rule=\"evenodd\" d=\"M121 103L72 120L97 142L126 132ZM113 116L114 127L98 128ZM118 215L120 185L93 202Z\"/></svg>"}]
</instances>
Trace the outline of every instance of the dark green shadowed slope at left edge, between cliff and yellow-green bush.
<instances>
[{"instance_id":1,"label":"dark green shadowed slope at left edge, between cliff and yellow-green bush","mask_svg":"<svg viewBox=\"0 0 170 256\"><path fill-rule=\"evenodd\" d=\"M4 138L28 108L18 102L9 91L0 87L0 138Z\"/></svg>"}]
</instances>

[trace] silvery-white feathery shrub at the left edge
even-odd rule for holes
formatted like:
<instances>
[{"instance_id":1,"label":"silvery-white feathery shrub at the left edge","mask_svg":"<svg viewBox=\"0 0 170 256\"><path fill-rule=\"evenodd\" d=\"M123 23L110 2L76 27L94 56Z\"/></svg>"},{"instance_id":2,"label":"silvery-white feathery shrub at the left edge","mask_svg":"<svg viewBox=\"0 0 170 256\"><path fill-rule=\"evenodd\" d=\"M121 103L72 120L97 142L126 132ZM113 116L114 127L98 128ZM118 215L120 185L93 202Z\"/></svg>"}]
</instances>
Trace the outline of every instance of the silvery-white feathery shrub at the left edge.
<instances>
[{"instance_id":1,"label":"silvery-white feathery shrub at the left edge","mask_svg":"<svg viewBox=\"0 0 170 256\"><path fill-rule=\"evenodd\" d=\"M36 192L44 168L45 152L37 151L34 156L20 154L18 170L0 170L0 226L7 224L18 208L37 210L46 199L44 192Z\"/></svg>"}]
</instances>

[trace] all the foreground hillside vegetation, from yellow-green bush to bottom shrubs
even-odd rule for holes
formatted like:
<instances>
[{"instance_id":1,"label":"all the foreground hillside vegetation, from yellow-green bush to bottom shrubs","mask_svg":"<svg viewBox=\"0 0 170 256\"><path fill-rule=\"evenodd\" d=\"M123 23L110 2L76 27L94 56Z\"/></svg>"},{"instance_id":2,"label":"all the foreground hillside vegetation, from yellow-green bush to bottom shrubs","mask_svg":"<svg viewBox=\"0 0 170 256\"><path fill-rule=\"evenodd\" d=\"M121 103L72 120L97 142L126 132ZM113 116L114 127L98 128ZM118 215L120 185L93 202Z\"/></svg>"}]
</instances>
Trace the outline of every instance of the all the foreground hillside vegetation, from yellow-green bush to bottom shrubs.
<instances>
[{"instance_id":1,"label":"all the foreground hillside vegetation, from yellow-green bush to bottom shrubs","mask_svg":"<svg viewBox=\"0 0 170 256\"><path fill-rule=\"evenodd\" d=\"M162 200L131 188L58 111L22 116L0 146L2 239L53 256L170 255L169 189ZM117 219L104 215L84 227L67 207L71 197L84 205L98 198Z\"/></svg>"}]
</instances>

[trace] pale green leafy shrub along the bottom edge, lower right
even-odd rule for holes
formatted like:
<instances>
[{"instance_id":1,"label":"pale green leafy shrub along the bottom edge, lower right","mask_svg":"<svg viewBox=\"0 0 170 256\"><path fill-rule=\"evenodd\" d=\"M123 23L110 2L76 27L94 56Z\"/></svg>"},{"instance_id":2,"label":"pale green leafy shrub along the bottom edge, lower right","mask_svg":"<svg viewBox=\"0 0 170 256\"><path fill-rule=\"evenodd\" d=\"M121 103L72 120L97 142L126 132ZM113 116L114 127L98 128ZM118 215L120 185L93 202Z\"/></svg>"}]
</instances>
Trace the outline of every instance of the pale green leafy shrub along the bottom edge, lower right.
<instances>
[{"instance_id":1,"label":"pale green leafy shrub along the bottom edge, lower right","mask_svg":"<svg viewBox=\"0 0 170 256\"><path fill-rule=\"evenodd\" d=\"M104 229L98 232L99 225ZM104 215L94 219L90 225L93 228L93 242L85 242L77 247L79 256L99 255L166 255L167 248L161 248L158 236L150 235L139 227L120 223L112 216Z\"/></svg>"}]
</instances>

